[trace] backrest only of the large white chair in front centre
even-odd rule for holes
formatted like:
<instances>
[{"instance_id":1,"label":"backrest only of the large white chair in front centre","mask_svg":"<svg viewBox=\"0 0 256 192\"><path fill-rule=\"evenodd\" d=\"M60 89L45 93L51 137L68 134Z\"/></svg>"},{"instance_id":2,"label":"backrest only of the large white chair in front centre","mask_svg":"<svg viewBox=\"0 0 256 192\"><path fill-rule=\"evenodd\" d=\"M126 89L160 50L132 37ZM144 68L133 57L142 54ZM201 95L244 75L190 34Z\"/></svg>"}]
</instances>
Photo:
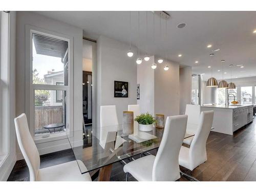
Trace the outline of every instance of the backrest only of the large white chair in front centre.
<instances>
[{"instance_id":1,"label":"backrest only of the large white chair in front centre","mask_svg":"<svg viewBox=\"0 0 256 192\"><path fill-rule=\"evenodd\" d=\"M153 181L180 178L179 152L186 133L187 115L167 117L162 141L153 166Z\"/></svg>"}]
</instances>

